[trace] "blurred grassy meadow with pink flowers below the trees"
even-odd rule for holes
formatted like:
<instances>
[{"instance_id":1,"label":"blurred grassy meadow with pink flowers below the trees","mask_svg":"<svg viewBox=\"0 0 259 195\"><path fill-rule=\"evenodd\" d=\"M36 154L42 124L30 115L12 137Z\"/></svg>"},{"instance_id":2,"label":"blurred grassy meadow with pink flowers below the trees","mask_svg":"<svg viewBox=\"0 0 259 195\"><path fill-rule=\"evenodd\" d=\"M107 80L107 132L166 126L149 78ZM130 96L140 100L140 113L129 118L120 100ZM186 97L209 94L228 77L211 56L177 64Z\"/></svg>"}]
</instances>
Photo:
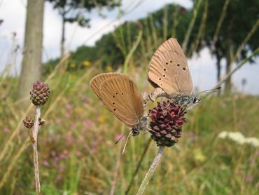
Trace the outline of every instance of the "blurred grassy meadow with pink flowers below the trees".
<instances>
[{"instance_id":1,"label":"blurred grassy meadow with pink flowers below the trees","mask_svg":"<svg viewBox=\"0 0 259 195\"><path fill-rule=\"evenodd\" d=\"M45 124L39 131L38 147L43 194L108 194L116 182L123 194L150 135L131 137L125 155L124 142L114 144L123 126L89 88L95 70L52 79L50 102L43 107ZM133 76L146 83L144 76ZM8 82L6 88L15 89ZM141 87L144 90L144 86ZM258 137L258 97L233 95L210 97L187 115L179 143L165 150L146 193L154 194L256 194L258 192L258 149L218 139L221 131L240 131ZM153 107L149 104L148 108ZM1 101L1 193L33 194L32 149L27 129L17 126L22 112L15 102ZM15 137L10 137L16 133ZM10 140L10 143L6 143ZM151 143L131 189L137 191L157 147ZM17 156L18 155L18 156ZM10 170L6 181L3 176ZM10 193L12 194L12 193Z\"/></svg>"}]
</instances>

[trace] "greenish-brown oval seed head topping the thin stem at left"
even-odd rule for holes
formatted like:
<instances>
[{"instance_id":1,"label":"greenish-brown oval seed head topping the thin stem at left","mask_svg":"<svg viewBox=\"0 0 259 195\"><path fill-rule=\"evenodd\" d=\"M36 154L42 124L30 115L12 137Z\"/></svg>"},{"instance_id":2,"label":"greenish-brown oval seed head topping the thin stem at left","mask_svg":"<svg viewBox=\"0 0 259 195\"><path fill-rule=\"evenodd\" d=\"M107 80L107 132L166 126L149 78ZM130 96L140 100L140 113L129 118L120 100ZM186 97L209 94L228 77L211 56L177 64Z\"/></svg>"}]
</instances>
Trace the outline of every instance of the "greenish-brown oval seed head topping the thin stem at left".
<instances>
[{"instance_id":1,"label":"greenish-brown oval seed head topping the thin stem at left","mask_svg":"<svg viewBox=\"0 0 259 195\"><path fill-rule=\"evenodd\" d=\"M47 83L42 81L36 81L33 85L33 89L29 93L31 95L31 101L36 106L45 105L50 97L50 88Z\"/></svg>"}]
</instances>

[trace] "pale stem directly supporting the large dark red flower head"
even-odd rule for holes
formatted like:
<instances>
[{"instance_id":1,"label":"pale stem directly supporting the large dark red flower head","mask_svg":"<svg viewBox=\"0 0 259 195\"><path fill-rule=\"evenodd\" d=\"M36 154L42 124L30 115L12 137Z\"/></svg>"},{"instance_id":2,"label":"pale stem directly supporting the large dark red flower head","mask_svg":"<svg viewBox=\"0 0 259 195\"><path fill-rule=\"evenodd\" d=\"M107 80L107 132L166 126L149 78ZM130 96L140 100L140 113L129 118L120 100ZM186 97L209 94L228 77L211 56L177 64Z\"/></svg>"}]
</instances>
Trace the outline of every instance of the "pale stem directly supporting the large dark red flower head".
<instances>
[{"instance_id":1,"label":"pale stem directly supporting the large dark red flower head","mask_svg":"<svg viewBox=\"0 0 259 195\"><path fill-rule=\"evenodd\" d=\"M165 149L165 147L159 147L158 154L157 154L157 156L155 156L155 159L154 159L153 163L151 164L151 167L149 168L148 173L146 173L146 176L145 176L144 180L142 181L141 186L139 187L139 191L137 192L137 195L141 195L144 193L149 180L151 180L151 177L152 177L153 173L155 172L155 168L157 168L157 166L158 166L158 163L162 157L164 149Z\"/></svg>"}]
</instances>

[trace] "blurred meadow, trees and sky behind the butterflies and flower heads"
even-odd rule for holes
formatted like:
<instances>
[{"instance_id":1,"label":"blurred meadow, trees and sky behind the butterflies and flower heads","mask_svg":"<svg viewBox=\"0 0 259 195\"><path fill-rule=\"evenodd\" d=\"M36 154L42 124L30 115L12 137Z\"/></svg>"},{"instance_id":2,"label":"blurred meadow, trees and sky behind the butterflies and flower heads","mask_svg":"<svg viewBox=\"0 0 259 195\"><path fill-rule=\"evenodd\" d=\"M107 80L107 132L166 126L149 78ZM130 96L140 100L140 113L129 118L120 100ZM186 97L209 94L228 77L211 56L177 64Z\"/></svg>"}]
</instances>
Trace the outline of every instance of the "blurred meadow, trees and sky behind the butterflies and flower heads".
<instances>
[{"instance_id":1,"label":"blurred meadow, trees and sky behind the butterflies and flower heads","mask_svg":"<svg viewBox=\"0 0 259 195\"><path fill-rule=\"evenodd\" d=\"M148 64L170 37L186 53L195 93L222 88L186 114L146 194L258 194L258 17L257 0L0 0L0 194L35 193L22 119L34 118L38 79L51 91L38 134L42 193L136 194L158 147L146 133L121 155L125 142L114 143L129 128L89 82L122 72L150 93Z\"/></svg>"}]
</instances>

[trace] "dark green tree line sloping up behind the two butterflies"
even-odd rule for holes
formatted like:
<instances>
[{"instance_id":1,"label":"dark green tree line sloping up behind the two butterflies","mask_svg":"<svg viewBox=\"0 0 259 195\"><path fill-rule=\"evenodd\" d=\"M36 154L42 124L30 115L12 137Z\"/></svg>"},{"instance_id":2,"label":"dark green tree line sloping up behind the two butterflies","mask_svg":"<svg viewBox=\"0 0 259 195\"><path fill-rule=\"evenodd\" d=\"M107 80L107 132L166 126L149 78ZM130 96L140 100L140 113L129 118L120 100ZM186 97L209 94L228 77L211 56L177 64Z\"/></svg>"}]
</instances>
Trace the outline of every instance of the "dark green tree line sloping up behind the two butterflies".
<instances>
[{"instance_id":1,"label":"dark green tree line sloping up behind the two butterflies","mask_svg":"<svg viewBox=\"0 0 259 195\"><path fill-rule=\"evenodd\" d=\"M80 46L71 54L71 60L80 65L83 60L92 62L100 62L102 68L106 66L117 69L121 65L132 49L132 44L137 39L140 26L143 29L142 43L134 52L134 66L144 65L143 58L151 58L160 43L174 36L180 43L183 42L185 32L188 29L189 21L192 16L192 10L188 10L181 6L171 4L167 8L162 8L155 13L151 13L147 18L142 18L138 22L124 22L116 27L113 32L104 34L101 39L96 42L95 46ZM168 14L165 14L165 11ZM170 15L169 15L170 13ZM172 17L173 16L173 17ZM167 17L167 19L165 19ZM164 20L168 20L167 25ZM181 25L177 25L181 24ZM140 25L140 26L139 26ZM165 32L168 32L167 34ZM163 37L165 36L165 38ZM192 34L195 36L195 34ZM45 73L51 71L57 60L50 60L44 66ZM148 62L147 62L148 63Z\"/></svg>"}]
</instances>

